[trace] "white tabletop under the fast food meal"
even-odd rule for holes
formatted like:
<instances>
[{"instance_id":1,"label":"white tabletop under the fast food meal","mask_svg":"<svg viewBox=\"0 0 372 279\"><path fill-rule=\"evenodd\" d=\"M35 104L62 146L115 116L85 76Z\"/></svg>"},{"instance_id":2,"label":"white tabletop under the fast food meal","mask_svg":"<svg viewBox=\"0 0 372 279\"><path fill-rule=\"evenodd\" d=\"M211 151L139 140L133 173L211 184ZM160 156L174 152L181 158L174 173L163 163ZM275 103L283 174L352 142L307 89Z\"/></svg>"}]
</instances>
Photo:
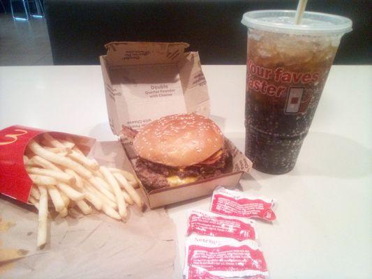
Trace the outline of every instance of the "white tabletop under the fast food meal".
<instances>
[{"instance_id":1,"label":"white tabletop under the fast food meal","mask_svg":"<svg viewBox=\"0 0 372 279\"><path fill-rule=\"evenodd\" d=\"M211 118L244 150L245 66L203 66ZM258 222L271 278L372 276L372 66L334 66L297 165L253 170L247 193L273 197L278 220ZM13 124L115 140L99 66L0 67L0 128ZM186 213L209 198L168 207L177 224L181 278Z\"/></svg>"}]
</instances>

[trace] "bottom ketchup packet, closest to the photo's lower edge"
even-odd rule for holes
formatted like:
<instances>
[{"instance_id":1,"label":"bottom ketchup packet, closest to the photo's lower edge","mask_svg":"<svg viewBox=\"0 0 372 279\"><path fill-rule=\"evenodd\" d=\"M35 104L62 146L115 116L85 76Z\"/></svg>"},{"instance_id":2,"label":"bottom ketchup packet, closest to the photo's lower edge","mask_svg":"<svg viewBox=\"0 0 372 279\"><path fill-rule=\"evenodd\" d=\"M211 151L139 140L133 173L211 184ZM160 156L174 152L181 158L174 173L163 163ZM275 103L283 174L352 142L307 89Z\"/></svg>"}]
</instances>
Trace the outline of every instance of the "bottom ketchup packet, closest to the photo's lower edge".
<instances>
[{"instance_id":1,"label":"bottom ketchup packet, closest to the photo's lower edge","mask_svg":"<svg viewBox=\"0 0 372 279\"><path fill-rule=\"evenodd\" d=\"M186 241L184 269L186 278L190 278L189 273L193 274L194 269L205 269L211 276L222 278L269 275L265 258L255 241L250 239L237 241L195 234L188 236Z\"/></svg>"}]
</instances>

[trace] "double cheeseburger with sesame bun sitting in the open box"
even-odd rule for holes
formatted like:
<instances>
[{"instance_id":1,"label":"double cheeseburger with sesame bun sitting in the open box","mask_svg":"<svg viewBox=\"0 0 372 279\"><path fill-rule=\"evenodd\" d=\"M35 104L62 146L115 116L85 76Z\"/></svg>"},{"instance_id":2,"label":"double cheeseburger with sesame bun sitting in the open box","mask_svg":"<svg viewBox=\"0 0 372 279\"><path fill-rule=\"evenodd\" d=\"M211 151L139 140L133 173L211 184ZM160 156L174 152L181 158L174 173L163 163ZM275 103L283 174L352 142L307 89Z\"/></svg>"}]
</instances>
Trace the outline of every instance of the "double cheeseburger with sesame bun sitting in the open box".
<instances>
[{"instance_id":1,"label":"double cheeseburger with sesame bun sitting in the open box","mask_svg":"<svg viewBox=\"0 0 372 279\"><path fill-rule=\"evenodd\" d=\"M135 172L148 190L179 186L228 172L232 157L221 130L198 114L152 121L135 136Z\"/></svg>"}]
</instances>

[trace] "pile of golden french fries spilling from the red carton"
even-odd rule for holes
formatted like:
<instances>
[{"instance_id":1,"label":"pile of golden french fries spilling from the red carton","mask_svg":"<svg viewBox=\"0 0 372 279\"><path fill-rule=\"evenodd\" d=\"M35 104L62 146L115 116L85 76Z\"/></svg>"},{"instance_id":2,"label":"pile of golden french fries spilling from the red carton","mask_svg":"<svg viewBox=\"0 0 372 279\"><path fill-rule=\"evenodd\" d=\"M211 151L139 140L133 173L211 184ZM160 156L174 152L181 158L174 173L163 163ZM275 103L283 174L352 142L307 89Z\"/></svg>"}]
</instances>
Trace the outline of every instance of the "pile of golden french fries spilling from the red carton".
<instances>
[{"instance_id":1,"label":"pile of golden french fries spilling from the red carton","mask_svg":"<svg viewBox=\"0 0 372 279\"><path fill-rule=\"evenodd\" d=\"M34 182L29 202L38 209L38 248L47 242L48 198L62 218L69 209L73 214L74 206L84 215L96 209L123 221L128 218L128 205L144 209L133 174L98 165L70 137L59 139L44 133L29 142L26 154L24 166Z\"/></svg>"}]
</instances>

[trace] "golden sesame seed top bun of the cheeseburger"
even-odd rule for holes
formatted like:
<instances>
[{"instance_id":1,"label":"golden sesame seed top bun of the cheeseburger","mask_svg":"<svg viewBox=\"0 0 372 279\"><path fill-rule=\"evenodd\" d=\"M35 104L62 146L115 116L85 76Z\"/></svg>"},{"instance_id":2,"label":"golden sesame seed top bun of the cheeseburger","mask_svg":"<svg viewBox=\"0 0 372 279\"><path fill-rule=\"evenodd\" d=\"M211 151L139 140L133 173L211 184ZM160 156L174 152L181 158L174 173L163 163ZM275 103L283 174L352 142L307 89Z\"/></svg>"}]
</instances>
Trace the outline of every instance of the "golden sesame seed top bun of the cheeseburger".
<instances>
[{"instance_id":1,"label":"golden sesame seed top bun of the cheeseburger","mask_svg":"<svg viewBox=\"0 0 372 279\"><path fill-rule=\"evenodd\" d=\"M221 130L198 114L174 114L152 121L135 136L138 156L170 167L206 160L223 147Z\"/></svg>"}]
</instances>

